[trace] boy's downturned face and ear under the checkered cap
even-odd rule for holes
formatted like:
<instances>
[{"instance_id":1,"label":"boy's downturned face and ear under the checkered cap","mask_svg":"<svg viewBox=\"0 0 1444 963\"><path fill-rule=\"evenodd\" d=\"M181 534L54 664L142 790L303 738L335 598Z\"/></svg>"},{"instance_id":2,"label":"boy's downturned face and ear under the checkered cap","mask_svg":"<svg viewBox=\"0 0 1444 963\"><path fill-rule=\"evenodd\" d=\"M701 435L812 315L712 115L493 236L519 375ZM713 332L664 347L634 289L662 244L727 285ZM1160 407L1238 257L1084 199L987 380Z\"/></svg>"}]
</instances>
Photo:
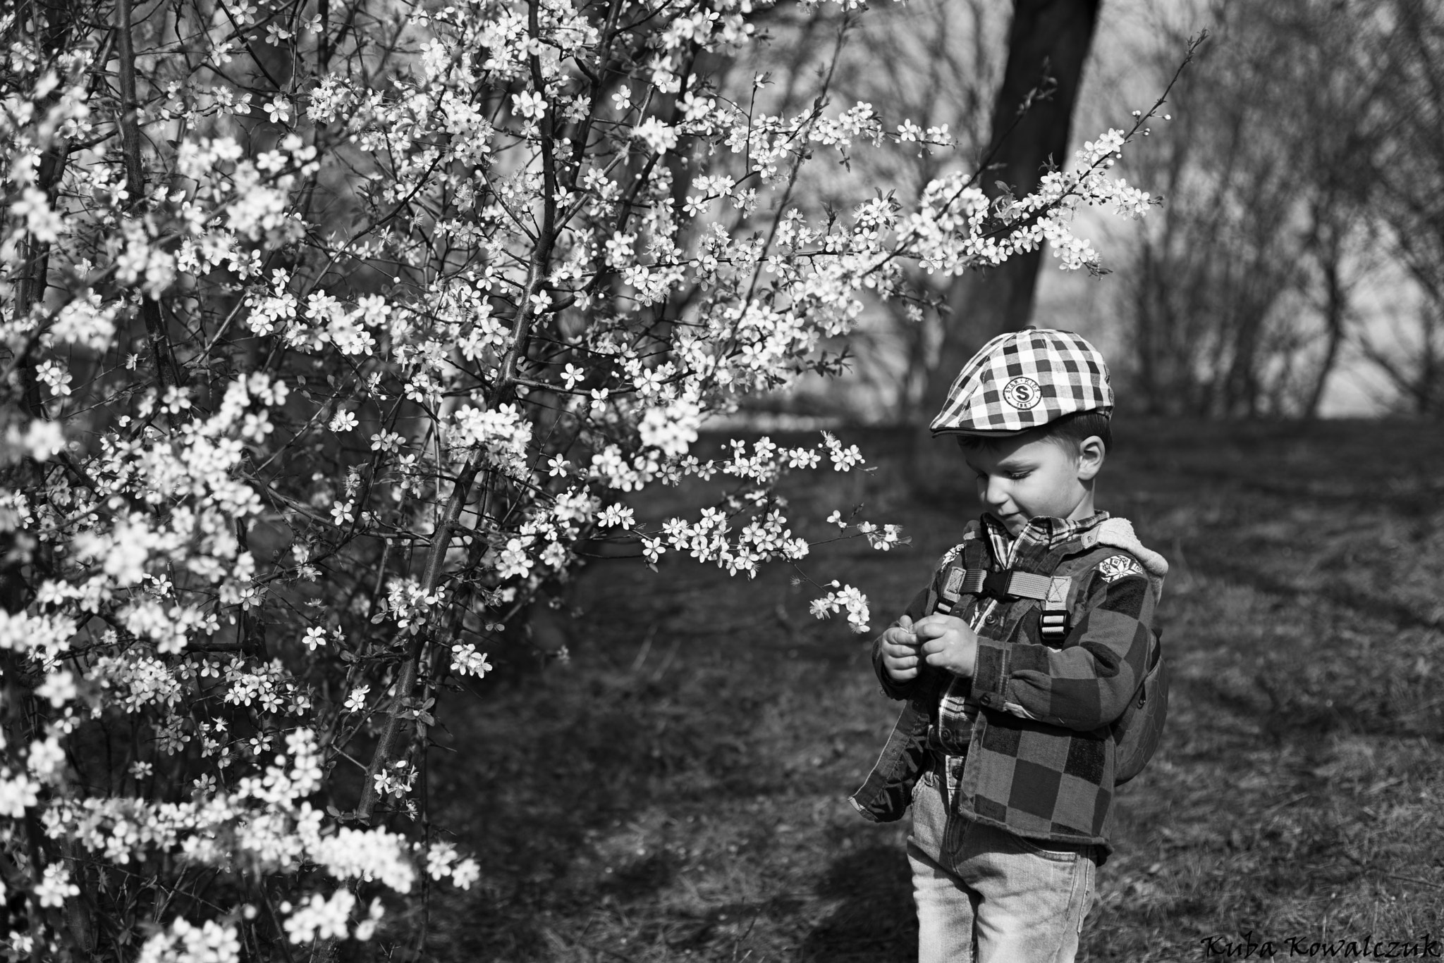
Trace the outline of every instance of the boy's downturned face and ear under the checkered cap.
<instances>
[{"instance_id":1,"label":"boy's downturned face and ear under the checkered cap","mask_svg":"<svg viewBox=\"0 0 1444 963\"><path fill-rule=\"evenodd\" d=\"M1093 514L1093 476L1103 463L1103 442L1087 437L1077 453L1067 442L1021 435L986 446L963 448L978 474L978 498L1018 536L1030 518L1086 518Z\"/></svg>"}]
</instances>

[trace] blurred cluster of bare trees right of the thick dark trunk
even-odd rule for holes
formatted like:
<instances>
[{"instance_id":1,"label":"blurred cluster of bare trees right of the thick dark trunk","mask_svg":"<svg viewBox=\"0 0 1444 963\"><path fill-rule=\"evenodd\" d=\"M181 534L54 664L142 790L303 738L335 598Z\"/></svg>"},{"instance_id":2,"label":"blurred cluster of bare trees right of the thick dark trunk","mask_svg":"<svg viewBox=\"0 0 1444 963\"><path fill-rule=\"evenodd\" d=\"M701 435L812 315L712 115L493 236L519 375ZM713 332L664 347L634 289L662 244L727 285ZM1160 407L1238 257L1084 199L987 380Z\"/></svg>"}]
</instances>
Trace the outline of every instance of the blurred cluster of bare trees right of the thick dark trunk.
<instances>
[{"instance_id":1,"label":"blurred cluster of bare trees right of the thick dark trunk","mask_svg":"<svg viewBox=\"0 0 1444 963\"><path fill-rule=\"evenodd\" d=\"M1173 120L1123 162L1167 198L1126 243L1109 300L1138 406L1314 417L1341 368L1375 368L1404 407L1431 410L1428 4L1157 6L1147 23L1155 78L1170 43L1200 23L1213 36Z\"/></svg>"}]
</instances>

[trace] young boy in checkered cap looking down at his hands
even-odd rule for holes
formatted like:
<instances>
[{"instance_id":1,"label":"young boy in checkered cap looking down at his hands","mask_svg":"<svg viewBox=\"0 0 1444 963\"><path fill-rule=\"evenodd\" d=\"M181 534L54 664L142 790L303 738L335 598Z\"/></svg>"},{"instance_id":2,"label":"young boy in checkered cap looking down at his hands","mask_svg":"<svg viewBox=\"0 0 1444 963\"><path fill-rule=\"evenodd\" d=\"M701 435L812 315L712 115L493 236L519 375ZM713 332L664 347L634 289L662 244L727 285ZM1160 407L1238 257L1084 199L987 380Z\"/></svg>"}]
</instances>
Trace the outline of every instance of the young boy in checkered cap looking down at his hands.
<instances>
[{"instance_id":1,"label":"young boy in checkered cap looking down at his hands","mask_svg":"<svg viewBox=\"0 0 1444 963\"><path fill-rule=\"evenodd\" d=\"M874 644L905 699L852 804L898 819L920 963L1074 959L1108 856L1115 722L1138 693L1167 563L1093 507L1110 445L1102 355L1066 331L988 342L931 432L985 514Z\"/></svg>"}]
</instances>

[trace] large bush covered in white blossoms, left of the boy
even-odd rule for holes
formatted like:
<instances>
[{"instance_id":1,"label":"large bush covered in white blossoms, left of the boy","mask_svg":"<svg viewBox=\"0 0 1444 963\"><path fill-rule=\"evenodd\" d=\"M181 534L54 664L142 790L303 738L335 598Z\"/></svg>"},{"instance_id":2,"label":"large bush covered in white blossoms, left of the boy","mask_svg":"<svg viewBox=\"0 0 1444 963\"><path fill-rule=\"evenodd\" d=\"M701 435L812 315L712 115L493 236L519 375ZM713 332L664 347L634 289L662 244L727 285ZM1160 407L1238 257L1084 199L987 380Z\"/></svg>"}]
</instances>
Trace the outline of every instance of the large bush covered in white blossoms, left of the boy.
<instances>
[{"instance_id":1,"label":"large bush covered in white blossoms, left of the boy","mask_svg":"<svg viewBox=\"0 0 1444 963\"><path fill-rule=\"evenodd\" d=\"M775 494L856 448L702 458L699 429L836 372L825 345L907 296L902 264L1047 241L1090 267L1074 212L1149 196L1108 176L1109 131L1032 196L959 169L799 209L801 165L920 134L825 91L768 113L747 65L787 14L0 13L4 956L419 953L419 894L481 872L422 819L438 696L585 553L752 578L839 527L897 544L803 531ZM689 478L729 494L637 514ZM813 611L868 627L852 586Z\"/></svg>"}]
</instances>

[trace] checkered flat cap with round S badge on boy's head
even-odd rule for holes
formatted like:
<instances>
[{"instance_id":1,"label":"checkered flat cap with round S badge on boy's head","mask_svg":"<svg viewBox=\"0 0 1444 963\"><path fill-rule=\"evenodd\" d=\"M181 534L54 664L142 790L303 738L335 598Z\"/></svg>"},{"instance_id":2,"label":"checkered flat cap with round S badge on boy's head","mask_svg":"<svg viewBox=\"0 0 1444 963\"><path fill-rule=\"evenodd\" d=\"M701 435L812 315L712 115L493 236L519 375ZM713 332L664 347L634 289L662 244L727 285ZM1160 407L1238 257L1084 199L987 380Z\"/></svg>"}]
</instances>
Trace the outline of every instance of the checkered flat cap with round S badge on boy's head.
<instances>
[{"instance_id":1,"label":"checkered flat cap with round S badge on boy's head","mask_svg":"<svg viewBox=\"0 0 1444 963\"><path fill-rule=\"evenodd\" d=\"M1028 328L998 335L963 365L933 435L1018 433L1074 411L1113 410L1097 348L1071 331Z\"/></svg>"}]
</instances>

